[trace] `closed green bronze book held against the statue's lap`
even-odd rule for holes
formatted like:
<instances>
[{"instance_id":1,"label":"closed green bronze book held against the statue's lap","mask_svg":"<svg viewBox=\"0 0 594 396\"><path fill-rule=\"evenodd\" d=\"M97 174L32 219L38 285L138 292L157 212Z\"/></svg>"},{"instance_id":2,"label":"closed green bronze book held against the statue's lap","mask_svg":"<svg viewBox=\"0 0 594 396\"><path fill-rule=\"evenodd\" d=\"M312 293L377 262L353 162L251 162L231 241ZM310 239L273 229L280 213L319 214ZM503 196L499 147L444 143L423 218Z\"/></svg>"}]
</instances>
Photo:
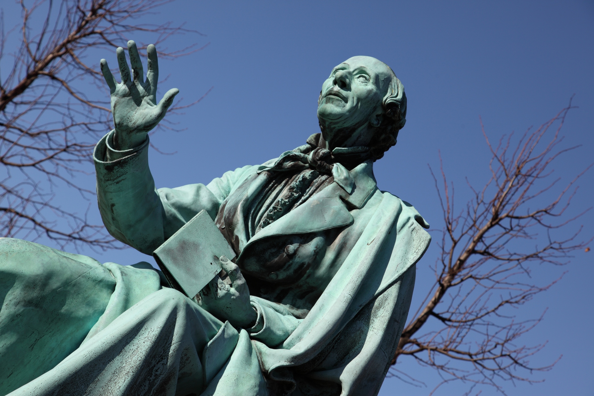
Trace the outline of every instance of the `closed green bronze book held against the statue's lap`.
<instances>
[{"instance_id":1,"label":"closed green bronze book held against the statue's lap","mask_svg":"<svg viewBox=\"0 0 594 396\"><path fill-rule=\"evenodd\" d=\"M219 258L235 252L206 210L200 211L153 252L173 289L192 298L222 269Z\"/></svg>"}]
</instances>

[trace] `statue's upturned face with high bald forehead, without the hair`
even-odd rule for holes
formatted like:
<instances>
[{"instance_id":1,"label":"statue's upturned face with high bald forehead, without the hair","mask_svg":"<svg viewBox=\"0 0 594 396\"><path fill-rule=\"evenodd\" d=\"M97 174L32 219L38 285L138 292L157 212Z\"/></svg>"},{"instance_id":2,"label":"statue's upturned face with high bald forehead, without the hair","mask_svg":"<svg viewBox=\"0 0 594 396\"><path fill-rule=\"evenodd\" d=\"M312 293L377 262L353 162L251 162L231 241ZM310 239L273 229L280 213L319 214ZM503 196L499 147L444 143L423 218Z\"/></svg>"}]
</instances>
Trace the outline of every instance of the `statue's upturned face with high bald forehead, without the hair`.
<instances>
[{"instance_id":1,"label":"statue's upturned face with high bald forehead, without the hair","mask_svg":"<svg viewBox=\"0 0 594 396\"><path fill-rule=\"evenodd\" d=\"M337 140L333 134L340 129L360 128L381 115L381 101L391 78L388 66L371 56L353 56L336 66L322 85L318 104L326 141Z\"/></svg>"}]
</instances>

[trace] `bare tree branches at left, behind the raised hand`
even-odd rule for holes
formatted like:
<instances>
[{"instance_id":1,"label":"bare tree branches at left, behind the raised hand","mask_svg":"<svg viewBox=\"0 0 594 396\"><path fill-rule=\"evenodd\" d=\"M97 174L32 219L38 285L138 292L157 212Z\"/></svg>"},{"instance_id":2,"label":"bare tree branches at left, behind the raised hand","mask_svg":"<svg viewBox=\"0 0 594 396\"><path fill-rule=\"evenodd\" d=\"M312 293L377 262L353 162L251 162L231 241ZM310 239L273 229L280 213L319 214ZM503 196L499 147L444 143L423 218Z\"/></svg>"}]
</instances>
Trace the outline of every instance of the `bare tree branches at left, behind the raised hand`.
<instances>
[{"instance_id":1,"label":"bare tree branches at left, behind the raised hand","mask_svg":"<svg viewBox=\"0 0 594 396\"><path fill-rule=\"evenodd\" d=\"M86 199L94 194L73 177L91 177L85 169L90 169L94 144L112 129L109 95L96 70L97 52L125 48L136 36L152 40L160 58L204 48L197 43L166 47L173 36L203 36L184 24L138 23L170 2L20 0L21 21L8 33L2 17L0 59L10 63L11 57L12 67L0 76L0 236L45 236L60 247L118 246L102 225L53 205L52 191L57 183L65 183ZM140 49L149 43L139 44ZM11 53L6 52L8 46L14 47ZM178 104L172 113L194 103Z\"/></svg>"}]
</instances>

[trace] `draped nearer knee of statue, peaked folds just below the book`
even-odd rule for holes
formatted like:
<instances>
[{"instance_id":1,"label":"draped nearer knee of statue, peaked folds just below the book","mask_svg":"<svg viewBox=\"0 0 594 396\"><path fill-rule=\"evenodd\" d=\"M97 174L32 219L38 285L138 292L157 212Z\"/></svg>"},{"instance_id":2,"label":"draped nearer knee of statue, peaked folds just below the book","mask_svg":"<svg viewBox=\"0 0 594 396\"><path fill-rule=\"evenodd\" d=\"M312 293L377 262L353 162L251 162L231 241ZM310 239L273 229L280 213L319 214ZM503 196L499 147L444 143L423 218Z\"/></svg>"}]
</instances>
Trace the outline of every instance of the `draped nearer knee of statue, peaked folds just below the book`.
<instances>
[{"instance_id":1,"label":"draped nearer knee of statue, peaked folds just below the book","mask_svg":"<svg viewBox=\"0 0 594 396\"><path fill-rule=\"evenodd\" d=\"M149 294L10 396L266 396L249 335L173 289Z\"/></svg>"}]
</instances>

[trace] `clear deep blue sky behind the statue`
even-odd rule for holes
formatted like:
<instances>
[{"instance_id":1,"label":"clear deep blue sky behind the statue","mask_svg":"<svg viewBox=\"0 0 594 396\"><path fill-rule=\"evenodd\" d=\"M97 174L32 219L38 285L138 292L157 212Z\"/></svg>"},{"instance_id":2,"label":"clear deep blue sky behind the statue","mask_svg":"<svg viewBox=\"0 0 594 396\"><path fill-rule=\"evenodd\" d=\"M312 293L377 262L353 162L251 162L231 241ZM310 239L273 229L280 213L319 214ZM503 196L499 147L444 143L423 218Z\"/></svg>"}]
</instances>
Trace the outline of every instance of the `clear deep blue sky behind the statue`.
<instances>
[{"instance_id":1,"label":"clear deep blue sky behind the statue","mask_svg":"<svg viewBox=\"0 0 594 396\"><path fill-rule=\"evenodd\" d=\"M594 161L592 1L178 0L138 22L168 20L186 21L188 28L207 34L177 40L210 45L185 58L160 62L162 78L170 76L160 85L158 99L177 87L179 96L190 102L214 88L185 115L172 118L184 131L153 137L160 150L176 152L150 153L158 187L207 183L226 170L263 163L304 144L319 131L321 84L333 66L354 55L386 62L405 85L406 126L396 147L375 164L375 176L380 189L411 202L433 228L441 228L443 220L427 164L439 166L438 151L457 186L459 207L469 198L465 178L475 186L488 178L489 152L479 116L489 137L496 139L540 125L575 94L573 104L579 109L568 115L563 147L582 147L561 157L555 175L568 181ZM116 65L110 53L100 55L97 65L101 57ZM586 173L579 185L571 213L594 204L594 172ZM81 205L78 194L68 189L60 194L56 203ZM90 215L99 218L96 206ZM591 212L579 221L584 224L583 239L594 235L593 222ZM434 281L428 267L437 257L436 247L418 265L411 311ZM132 249L84 252L102 262L151 261ZM544 384L508 383L508 395L593 394L593 259L594 251L580 251L563 268L533 266L537 281L568 273L517 312L519 318L534 317L548 308L544 321L520 343L548 340L532 359L535 366L563 358L551 371L533 374L534 379L545 379ZM399 369L426 387L388 378L380 395L426 395L440 382L431 369L412 359L402 359ZM436 395L462 394L467 387L445 385ZM482 395L491 394L493 389L483 389Z\"/></svg>"}]
</instances>

